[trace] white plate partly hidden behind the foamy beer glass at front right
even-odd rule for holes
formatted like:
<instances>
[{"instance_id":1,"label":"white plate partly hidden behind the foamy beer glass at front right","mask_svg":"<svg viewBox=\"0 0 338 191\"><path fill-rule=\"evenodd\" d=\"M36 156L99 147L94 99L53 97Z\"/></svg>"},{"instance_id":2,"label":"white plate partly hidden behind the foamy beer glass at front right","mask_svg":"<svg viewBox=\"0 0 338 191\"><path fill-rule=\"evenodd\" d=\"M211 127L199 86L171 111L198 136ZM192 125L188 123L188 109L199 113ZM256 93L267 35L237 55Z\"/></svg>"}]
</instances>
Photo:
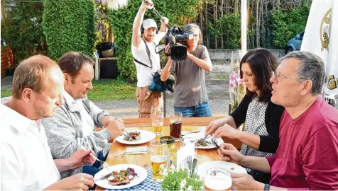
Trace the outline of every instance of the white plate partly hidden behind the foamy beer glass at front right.
<instances>
[{"instance_id":1,"label":"white plate partly hidden behind the foamy beer glass at front right","mask_svg":"<svg viewBox=\"0 0 338 191\"><path fill-rule=\"evenodd\" d=\"M209 168L224 168L229 170L231 173L247 173L245 168L235 163L229 163L226 161L207 161L197 166L197 175L200 175L201 178L205 178Z\"/></svg>"}]
</instances>

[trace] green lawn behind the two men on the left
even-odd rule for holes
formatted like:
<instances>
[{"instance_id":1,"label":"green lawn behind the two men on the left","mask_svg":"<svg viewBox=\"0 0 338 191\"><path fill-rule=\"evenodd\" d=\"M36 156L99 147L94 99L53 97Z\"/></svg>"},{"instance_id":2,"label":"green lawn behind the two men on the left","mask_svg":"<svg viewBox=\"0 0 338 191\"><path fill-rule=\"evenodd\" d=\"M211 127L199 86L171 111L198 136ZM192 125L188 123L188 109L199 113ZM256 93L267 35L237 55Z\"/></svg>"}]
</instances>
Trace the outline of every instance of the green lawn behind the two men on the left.
<instances>
[{"instance_id":1,"label":"green lawn behind the two men on the left","mask_svg":"<svg viewBox=\"0 0 338 191\"><path fill-rule=\"evenodd\" d=\"M88 98L92 101L136 100L136 86L121 80L96 81ZM1 98L11 96L11 90L1 90Z\"/></svg>"}]
</instances>

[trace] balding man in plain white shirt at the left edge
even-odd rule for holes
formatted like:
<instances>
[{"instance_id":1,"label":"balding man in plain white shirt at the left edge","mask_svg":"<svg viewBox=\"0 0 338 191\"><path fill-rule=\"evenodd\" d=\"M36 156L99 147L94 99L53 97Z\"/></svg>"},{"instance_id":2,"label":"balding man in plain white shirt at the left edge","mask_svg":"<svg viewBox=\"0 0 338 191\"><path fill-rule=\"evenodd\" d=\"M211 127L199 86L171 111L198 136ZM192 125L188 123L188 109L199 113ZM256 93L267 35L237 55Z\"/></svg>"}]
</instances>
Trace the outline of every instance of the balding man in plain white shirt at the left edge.
<instances>
[{"instance_id":1,"label":"balding man in plain white shirt at the left edge","mask_svg":"<svg viewBox=\"0 0 338 191\"><path fill-rule=\"evenodd\" d=\"M92 175L60 180L60 173L94 163L92 151L75 151L54 160L40 119L62 105L64 77L52 59L36 55L23 60L13 76L13 96L1 100L1 190L88 190ZM94 152L93 152L94 153Z\"/></svg>"}]
</instances>

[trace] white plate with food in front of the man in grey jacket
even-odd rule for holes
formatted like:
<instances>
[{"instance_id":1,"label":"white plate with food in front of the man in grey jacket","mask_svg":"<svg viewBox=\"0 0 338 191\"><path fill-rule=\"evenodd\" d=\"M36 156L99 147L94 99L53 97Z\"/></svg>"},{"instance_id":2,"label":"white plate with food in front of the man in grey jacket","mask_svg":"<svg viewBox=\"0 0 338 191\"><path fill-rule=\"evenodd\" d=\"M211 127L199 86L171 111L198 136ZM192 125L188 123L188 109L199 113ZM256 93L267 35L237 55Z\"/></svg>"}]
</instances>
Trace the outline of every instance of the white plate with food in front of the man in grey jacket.
<instances>
[{"instance_id":1,"label":"white plate with food in front of the man in grey jacket","mask_svg":"<svg viewBox=\"0 0 338 191\"><path fill-rule=\"evenodd\" d=\"M126 130L129 132L130 136L129 139L124 135L116 137L116 141L120 142L121 144L143 144L148 141L153 141L155 139L156 134L153 132L145 131L145 130Z\"/></svg>"}]
</instances>

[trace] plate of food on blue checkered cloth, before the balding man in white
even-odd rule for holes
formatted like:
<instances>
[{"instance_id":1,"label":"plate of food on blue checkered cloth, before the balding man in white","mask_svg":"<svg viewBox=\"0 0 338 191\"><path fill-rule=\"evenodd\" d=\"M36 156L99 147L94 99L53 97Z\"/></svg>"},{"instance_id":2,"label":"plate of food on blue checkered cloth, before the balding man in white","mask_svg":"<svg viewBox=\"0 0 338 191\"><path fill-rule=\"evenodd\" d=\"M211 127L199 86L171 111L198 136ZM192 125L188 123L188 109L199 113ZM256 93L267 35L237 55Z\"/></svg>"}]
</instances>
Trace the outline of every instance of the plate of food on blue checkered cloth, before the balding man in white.
<instances>
[{"instance_id":1,"label":"plate of food on blue checkered cloth, before the balding man in white","mask_svg":"<svg viewBox=\"0 0 338 191\"><path fill-rule=\"evenodd\" d=\"M99 180L99 178L109 175L108 178ZM109 166L96 173L95 184L106 189L124 189L133 187L143 182L147 178L147 170L141 166L133 164L119 164Z\"/></svg>"}]
</instances>

